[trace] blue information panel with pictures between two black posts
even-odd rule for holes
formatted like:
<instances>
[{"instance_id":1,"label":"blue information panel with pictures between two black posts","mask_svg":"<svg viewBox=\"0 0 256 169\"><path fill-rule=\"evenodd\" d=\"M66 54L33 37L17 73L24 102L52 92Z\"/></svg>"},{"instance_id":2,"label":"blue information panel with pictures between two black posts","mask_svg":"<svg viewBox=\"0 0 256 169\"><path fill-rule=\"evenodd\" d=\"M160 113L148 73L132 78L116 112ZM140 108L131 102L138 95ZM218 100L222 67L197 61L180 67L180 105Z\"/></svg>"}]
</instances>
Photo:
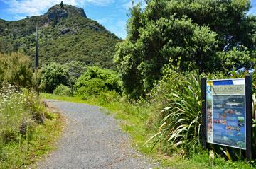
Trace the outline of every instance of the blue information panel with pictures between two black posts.
<instances>
[{"instance_id":1,"label":"blue information panel with pictures between two black posts","mask_svg":"<svg viewBox=\"0 0 256 169\"><path fill-rule=\"evenodd\" d=\"M245 79L206 81L207 142L245 149Z\"/></svg>"}]
</instances>

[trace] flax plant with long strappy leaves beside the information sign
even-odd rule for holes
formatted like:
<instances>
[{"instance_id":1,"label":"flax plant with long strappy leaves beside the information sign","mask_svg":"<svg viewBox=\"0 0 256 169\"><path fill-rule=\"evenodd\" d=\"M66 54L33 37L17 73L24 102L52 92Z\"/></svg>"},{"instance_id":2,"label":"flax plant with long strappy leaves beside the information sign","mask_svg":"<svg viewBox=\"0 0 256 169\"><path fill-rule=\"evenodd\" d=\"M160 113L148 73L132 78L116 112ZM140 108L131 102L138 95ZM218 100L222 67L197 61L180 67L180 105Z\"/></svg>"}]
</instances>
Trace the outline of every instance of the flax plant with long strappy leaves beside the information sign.
<instances>
[{"instance_id":1,"label":"flax plant with long strappy leaves beside the information sign","mask_svg":"<svg viewBox=\"0 0 256 169\"><path fill-rule=\"evenodd\" d=\"M181 150L181 156L187 156L201 145L200 76L197 72L171 71L171 74L175 75L162 82L171 87L169 93L162 93L166 95L168 107L161 111L159 132L152 139L157 137L166 153Z\"/></svg>"}]
</instances>

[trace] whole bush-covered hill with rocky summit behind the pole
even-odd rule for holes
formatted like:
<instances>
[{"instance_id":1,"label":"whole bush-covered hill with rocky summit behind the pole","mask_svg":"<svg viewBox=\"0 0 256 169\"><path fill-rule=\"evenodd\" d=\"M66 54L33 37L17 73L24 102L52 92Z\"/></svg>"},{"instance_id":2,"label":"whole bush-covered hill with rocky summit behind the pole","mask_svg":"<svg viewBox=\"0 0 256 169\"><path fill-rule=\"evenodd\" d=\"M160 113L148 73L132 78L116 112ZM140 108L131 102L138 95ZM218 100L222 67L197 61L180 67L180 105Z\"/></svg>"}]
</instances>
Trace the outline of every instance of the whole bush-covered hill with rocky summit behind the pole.
<instances>
[{"instance_id":1,"label":"whole bush-covered hill with rocky summit behind the pole","mask_svg":"<svg viewBox=\"0 0 256 169\"><path fill-rule=\"evenodd\" d=\"M42 16L20 21L0 19L0 52L21 51L33 59L37 21L41 66L73 60L107 68L113 66L114 46L120 41L119 38L87 18L82 8L70 5L63 8L55 5Z\"/></svg>"}]
</instances>

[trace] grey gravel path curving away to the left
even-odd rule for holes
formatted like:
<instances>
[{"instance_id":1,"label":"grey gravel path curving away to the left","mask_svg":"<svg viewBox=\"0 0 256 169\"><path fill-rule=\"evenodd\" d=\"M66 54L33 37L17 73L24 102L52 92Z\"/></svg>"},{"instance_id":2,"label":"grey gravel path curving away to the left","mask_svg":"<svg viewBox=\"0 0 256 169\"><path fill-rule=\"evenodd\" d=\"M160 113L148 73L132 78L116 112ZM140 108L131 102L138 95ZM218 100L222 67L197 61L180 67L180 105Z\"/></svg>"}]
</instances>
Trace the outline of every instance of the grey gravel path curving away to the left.
<instances>
[{"instance_id":1,"label":"grey gravel path curving away to the left","mask_svg":"<svg viewBox=\"0 0 256 169\"><path fill-rule=\"evenodd\" d=\"M154 168L156 163L135 151L111 115L100 107L47 100L67 119L58 149L38 168Z\"/></svg>"}]
</instances>

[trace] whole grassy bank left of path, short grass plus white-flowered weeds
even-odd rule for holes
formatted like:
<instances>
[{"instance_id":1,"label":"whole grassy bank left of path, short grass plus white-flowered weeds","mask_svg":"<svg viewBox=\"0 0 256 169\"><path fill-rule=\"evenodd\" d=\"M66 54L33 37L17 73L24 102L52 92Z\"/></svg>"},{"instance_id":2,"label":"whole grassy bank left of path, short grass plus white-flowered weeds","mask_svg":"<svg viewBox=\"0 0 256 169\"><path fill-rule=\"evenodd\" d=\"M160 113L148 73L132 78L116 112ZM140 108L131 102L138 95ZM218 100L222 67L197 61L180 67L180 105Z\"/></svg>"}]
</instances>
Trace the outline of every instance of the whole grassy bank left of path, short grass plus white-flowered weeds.
<instances>
[{"instance_id":1,"label":"whole grassy bank left of path, short grass plus white-flowered weeds","mask_svg":"<svg viewBox=\"0 0 256 169\"><path fill-rule=\"evenodd\" d=\"M44 107L35 93L2 88L0 168L29 168L46 153L63 129L60 115Z\"/></svg>"}]
</instances>

